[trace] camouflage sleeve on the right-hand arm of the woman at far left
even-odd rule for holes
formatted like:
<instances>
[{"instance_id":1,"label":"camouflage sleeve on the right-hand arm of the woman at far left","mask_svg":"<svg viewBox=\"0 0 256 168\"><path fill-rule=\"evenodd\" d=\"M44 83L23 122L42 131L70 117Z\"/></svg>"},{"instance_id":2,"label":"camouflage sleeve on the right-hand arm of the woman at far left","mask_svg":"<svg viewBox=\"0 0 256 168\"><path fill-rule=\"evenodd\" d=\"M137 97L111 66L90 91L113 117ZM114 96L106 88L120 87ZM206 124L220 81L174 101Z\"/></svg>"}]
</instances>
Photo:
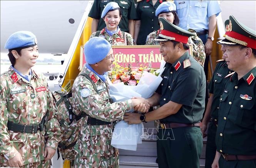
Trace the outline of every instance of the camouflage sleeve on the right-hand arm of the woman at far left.
<instances>
[{"instance_id":1,"label":"camouflage sleeve on the right-hand arm of the woman at far left","mask_svg":"<svg viewBox=\"0 0 256 168\"><path fill-rule=\"evenodd\" d=\"M45 79L46 81L46 79ZM47 90L49 88L47 87ZM46 110L46 119L45 122L45 135L47 142L45 147L50 147L57 149L58 143L60 141L60 124L57 121L56 117L57 106L55 104L54 98L50 90L47 92L47 110Z\"/></svg>"}]
</instances>

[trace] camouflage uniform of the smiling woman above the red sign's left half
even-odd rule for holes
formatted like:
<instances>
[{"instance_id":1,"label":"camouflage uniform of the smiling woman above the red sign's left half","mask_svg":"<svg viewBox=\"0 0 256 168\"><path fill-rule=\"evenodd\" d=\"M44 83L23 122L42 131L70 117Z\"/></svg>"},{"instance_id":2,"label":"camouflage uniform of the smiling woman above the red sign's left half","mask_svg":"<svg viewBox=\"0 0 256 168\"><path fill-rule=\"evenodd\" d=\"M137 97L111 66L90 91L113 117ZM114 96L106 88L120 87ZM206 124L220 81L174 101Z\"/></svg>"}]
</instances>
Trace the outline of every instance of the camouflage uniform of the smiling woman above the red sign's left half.
<instances>
[{"instance_id":1,"label":"camouflage uniform of the smiling woman above the red sign's left half","mask_svg":"<svg viewBox=\"0 0 256 168\"><path fill-rule=\"evenodd\" d=\"M112 46L132 46L133 45L133 39L132 35L129 33L126 33L126 43L123 36L122 31L119 29L116 33L114 33L112 36L107 34L105 28L101 30L99 37L105 38ZM93 38L96 36L96 32L92 33L90 38Z\"/></svg>"}]
</instances>

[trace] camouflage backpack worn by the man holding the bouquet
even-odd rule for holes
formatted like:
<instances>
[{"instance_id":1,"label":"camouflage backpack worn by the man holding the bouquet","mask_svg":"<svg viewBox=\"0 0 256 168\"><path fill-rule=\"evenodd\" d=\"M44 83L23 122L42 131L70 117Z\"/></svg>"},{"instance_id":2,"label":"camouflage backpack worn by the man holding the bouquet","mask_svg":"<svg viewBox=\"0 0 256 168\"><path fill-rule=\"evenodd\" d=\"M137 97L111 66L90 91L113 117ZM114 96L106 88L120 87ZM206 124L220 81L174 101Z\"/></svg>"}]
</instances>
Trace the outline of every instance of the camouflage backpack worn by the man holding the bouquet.
<instances>
[{"instance_id":1,"label":"camouflage backpack worn by the man holding the bouquet","mask_svg":"<svg viewBox=\"0 0 256 168\"><path fill-rule=\"evenodd\" d=\"M85 73L80 75L86 77L92 82L92 79ZM94 88L97 86L92 82ZM61 140L58 145L58 159L60 153L63 160L74 160L75 159L75 150L74 146L77 142L77 139L80 134L80 129L85 122L86 113L82 113L80 116L77 116L72 111L72 93L55 91L53 93L56 106L57 106L57 120L60 123L60 132Z\"/></svg>"}]
</instances>

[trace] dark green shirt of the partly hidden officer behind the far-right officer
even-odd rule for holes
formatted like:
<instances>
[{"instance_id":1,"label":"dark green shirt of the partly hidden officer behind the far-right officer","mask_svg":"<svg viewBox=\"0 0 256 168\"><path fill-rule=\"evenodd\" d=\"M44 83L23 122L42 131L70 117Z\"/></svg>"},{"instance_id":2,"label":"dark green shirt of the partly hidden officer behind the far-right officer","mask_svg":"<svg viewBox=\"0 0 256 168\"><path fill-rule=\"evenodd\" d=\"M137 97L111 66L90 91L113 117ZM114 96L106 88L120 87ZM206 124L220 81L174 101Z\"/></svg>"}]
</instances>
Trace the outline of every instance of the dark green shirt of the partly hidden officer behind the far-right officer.
<instances>
[{"instance_id":1,"label":"dark green shirt of the partly hidden officer behind the far-right officer","mask_svg":"<svg viewBox=\"0 0 256 168\"><path fill-rule=\"evenodd\" d=\"M211 106L211 118L218 119L219 116L219 98L223 93L225 83L229 78L225 78L233 70L228 69L226 61L223 60L216 65L208 89L213 95L212 106Z\"/></svg>"}]
</instances>

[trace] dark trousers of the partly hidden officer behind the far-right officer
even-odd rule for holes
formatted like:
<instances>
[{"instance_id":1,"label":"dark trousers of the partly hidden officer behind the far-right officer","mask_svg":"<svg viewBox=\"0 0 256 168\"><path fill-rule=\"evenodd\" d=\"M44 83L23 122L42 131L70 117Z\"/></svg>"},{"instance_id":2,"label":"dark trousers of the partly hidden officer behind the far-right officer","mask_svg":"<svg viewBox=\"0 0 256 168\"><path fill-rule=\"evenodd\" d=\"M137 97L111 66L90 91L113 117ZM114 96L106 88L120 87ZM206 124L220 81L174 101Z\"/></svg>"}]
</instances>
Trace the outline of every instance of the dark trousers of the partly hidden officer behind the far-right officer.
<instances>
[{"instance_id":1,"label":"dark trousers of the partly hidden officer behind the far-right officer","mask_svg":"<svg viewBox=\"0 0 256 168\"><path fill-rule=\"evenodd\" d=\"M207 131L205 168L212 167L212 162L216 154L216 143L215 143L216 130L217 130L217 126L213 123L213 121L211 121Z\"/></svg>"}]
</instances>

